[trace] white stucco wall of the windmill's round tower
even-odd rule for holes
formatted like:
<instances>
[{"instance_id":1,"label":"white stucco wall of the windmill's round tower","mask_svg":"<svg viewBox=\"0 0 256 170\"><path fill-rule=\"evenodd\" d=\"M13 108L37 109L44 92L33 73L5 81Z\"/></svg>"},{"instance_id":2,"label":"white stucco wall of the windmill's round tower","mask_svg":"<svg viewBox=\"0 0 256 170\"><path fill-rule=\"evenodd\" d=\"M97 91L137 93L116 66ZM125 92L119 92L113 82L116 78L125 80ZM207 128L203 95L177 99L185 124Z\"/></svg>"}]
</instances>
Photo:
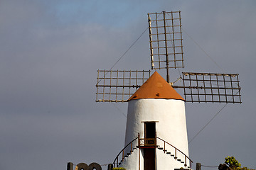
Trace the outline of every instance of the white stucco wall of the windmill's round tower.
<instances>
[{"instance_id":1,"label":"white stucco wall of the windmill's round tower","mask_svg":"<svg viewBox=\"0 0 256 170\"><path fill-rule=\"evenodd\" d=\"M160 137L171 145L174 145L174 147L180 149L188 156L188 138L184 101L154 98L129 101L125 145L134 140L134 138L138 136L138 132L140 137L144 137L144 123L142 123L142 121L158 121L158 123L156 123L157 137ZM164 147L164 142L157 140L157 145ZM171 151L173 148L169 147L167 149L168 152L174 153L174 150ZM167 164L169 164L168 167L171 169L181 167L180 165L182 164L177 162L174 157L164 154L162 150L158 150L159 149L156 149L157 169L162 169L164 166L166 167ZM183 156L178 157L184 159ZM171 161L173 159L178 165ZM127 161L123 166L129 170L129 167L132 167L129 164L138 164L138 159L131 159L131 161ZM143 170L143 162L141 170Z\"/></svg>"}]
</instances>

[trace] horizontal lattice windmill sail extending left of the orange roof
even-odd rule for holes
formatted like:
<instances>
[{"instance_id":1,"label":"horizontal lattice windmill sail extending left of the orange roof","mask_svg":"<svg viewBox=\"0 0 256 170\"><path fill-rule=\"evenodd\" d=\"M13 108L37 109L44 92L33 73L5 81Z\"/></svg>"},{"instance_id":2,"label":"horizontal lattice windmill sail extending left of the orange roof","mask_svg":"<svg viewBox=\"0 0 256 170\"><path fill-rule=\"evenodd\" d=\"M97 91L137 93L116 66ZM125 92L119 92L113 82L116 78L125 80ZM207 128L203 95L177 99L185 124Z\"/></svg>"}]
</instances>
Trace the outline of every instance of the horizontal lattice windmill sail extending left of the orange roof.
<instances>
[{"instance_id":1,"label":"horizontal lattice windmill sail extending left of the orange roof","mask_svg":"<svg viewBox=\"0 0 256 170\"><path fill-rule=\"evenodd\" d=\"M96 102L127 102L151 70L97 70Z\"/></svg>"}]
</instances>

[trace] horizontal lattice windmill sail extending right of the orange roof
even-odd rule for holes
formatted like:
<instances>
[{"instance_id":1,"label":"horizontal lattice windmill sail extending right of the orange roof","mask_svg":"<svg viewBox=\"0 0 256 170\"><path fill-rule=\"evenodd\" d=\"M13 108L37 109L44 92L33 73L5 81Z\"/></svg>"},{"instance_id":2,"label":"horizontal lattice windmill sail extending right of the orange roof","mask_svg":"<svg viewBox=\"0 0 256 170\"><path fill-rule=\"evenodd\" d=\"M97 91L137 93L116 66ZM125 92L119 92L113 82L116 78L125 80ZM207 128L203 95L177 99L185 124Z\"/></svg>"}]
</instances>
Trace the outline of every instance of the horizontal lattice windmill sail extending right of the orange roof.
<instances>
[{"instance_id":1,"label":"horizontal lattice windmill sail extending right of the orange roof","mask_svg":"<svg viewBox=\"0 0 256 170\"><path fill-rule=\"evenodd\" d=\"M242 103L238 74L183 72L186 102Z\"/></svg>"}]
</instances>

